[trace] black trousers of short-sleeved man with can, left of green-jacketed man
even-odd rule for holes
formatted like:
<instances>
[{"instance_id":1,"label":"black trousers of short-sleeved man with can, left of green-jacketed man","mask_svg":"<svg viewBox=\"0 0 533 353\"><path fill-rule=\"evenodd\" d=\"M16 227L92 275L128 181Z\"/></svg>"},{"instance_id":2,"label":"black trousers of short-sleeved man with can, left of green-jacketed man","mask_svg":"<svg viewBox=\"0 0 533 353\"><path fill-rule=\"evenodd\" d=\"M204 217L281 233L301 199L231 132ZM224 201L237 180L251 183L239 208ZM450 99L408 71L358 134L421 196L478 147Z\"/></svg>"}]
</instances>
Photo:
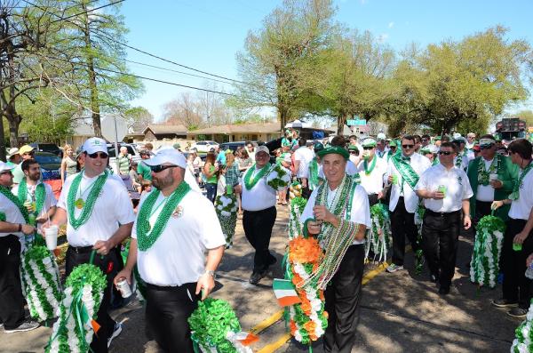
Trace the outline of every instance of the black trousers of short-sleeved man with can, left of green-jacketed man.
<instances>
[{"instance_id":1,"label":"black trousers of short-sleeved man with can, left of green-jacketed man","mask_svg":"<svg viewBox=\"0 0 533 353\"><path fill-rule=\"evenodd\" d=\"M434 213L426 209L422 226L422 249L429 271L443 288L449 288L455 274L460 230L460 211Z\"/></svg>"}]
</instances>

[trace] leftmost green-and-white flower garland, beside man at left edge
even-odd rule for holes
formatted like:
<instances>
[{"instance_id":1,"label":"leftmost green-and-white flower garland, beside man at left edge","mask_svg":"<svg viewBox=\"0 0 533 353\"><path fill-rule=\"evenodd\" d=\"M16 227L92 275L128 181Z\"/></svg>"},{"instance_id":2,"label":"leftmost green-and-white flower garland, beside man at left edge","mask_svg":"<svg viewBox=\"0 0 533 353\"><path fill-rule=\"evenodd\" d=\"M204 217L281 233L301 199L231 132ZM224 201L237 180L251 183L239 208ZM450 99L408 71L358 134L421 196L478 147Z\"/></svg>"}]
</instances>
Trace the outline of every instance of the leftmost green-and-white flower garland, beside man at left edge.
<instances>
[{"instance_id":1,"label":"leftmost green-and-white flower garland, beside man at left edge","mask_svg":"<svg viewBox=\"0 0 533 353\"><path fill-rule=\"evenodd\" d=\"M45 321L60 307L60 270L45 246L30 246L20 263L22 290L31 317Z\"/></svg>"}]
</instances>

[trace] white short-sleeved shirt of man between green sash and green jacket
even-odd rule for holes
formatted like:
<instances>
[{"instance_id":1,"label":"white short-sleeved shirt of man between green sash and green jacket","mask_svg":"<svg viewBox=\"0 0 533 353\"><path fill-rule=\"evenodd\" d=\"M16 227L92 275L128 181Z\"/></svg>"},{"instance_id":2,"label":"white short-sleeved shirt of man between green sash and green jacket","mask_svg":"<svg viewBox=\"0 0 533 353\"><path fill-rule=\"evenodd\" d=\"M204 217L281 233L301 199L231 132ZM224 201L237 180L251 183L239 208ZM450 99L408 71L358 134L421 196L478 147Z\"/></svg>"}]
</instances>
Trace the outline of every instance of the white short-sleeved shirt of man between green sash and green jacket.
<instances>
[{"instance_id":1,"label":"white short-sleeved shirt of man between green sash and green jacket","mask_svg":"<svg viewBox=\"0 0 533 353\"><path fill-rule=\"evenodd\" d=\"M442 185L446 188L444 198L441 200L424 199L426 208L433 212L458 211L463 207L463 200L473 197L470 181L468 181L465 171L455 165L449 170L442 164L430 167L422 173L415 189L436 191Z\"/></svg>"}]
</instances>

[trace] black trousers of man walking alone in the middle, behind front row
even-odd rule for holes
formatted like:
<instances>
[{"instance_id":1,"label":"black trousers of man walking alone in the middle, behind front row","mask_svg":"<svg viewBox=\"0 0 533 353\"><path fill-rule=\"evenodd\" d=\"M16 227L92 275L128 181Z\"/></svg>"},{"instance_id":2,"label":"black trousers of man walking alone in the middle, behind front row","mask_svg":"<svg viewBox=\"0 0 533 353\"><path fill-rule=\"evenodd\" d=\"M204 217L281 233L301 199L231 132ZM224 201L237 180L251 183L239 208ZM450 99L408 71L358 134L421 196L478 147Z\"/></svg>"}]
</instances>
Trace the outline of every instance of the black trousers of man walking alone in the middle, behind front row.
<instances>
[{"instance_id":1,"label":"black trousers of man walking alone in the middle, behind front row","mask_svg":"<svg viewBox=\"0 0 533 353\"><path fill-rule=\"evenodd\" d=\"M268 251L272 228L276 216L275 207L261 211L244 211L243 229L246 239L255 249L253 256L253 272L262 272L268 269L275 261L274 256Z\"/></svg>"}]
</instances>

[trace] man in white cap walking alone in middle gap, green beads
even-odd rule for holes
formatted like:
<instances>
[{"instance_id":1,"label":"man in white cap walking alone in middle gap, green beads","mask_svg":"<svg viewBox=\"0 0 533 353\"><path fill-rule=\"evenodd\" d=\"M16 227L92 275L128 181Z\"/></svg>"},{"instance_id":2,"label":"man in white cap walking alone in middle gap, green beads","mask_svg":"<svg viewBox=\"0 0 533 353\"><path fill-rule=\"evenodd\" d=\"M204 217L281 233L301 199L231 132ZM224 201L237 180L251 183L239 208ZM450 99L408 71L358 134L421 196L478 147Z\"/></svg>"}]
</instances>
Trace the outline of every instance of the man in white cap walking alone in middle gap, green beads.
<instances>
[{"instance_id":1,"label":"man in white cap walking alone in middle gap, green beads","mask_svg":"<svg viewBox=\"0 0 533 353\"><path fill-rule=\"evenodd\" d=\"M235 186L242 193L243 229L250 245L255 249L250 283L257 285L267 276L268 267L276 262L268 250L276 217L275 193L265 180L270 168L270 153L267 146L256 148L255 161L243 174L243 181Z\"/></svg>"}]
</instances>

